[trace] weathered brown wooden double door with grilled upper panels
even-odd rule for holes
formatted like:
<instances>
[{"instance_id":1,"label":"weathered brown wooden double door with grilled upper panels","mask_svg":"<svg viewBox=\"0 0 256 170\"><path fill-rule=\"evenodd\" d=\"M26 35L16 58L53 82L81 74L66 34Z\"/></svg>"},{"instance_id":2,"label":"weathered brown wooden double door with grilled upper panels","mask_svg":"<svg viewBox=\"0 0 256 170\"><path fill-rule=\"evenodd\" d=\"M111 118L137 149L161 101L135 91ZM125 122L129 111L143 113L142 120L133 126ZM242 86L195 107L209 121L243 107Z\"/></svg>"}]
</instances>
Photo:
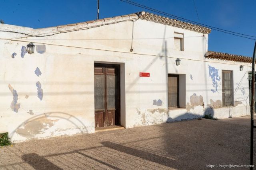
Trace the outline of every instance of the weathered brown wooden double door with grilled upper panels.
<instances>
[{"instance_id":1,"label":"weathered brown wooden double door with grilled upper panels","mask_svg":"<svg viewBox=\"0 0 256 170\"><path fill-rule=\"evenodd\" d=\"M94 64L95 128L120 125L120 65Z\"/></svg>"}]
</instances>

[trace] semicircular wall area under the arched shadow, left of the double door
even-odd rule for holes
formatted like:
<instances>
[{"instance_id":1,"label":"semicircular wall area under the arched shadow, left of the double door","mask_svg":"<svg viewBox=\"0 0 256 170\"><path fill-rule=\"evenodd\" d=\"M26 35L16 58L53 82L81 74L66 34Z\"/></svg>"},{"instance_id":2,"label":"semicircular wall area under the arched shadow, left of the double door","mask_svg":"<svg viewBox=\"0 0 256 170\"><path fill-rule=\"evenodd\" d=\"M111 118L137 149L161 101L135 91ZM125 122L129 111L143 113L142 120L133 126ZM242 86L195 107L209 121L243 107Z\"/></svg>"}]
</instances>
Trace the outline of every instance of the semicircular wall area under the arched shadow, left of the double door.
<instances>
[{"instance_id":1,"label":"semicircular wall area under the arched shadow, left of the double door","mask_svg":"<svg viewBox=\"0 0 256 170\"><path fill-rule=\"evenodd\" d=\"M10 133L10 137L14 137L14 135L18 134L26 139L38 138L38 135L42 135L42 138L60 136L58 133L58 129L54 127L58 121L66 121L61 122L62 125L66 125L67 123L71 123L73 127L61 128L61 134L63 135L72 135L77 133L88 133L92 127L86 126L84 122L82 122L77 117L70 115L64 112L47 112L42 113L40 115L36 115L22 122L14 131ZM71 131L70 131L71 130ZM73 131L72 131L73 130ZM50 131L50 135L44 135L46 131ZM65 131L69 131L65 134ZM55 133L55 135L53 135ZM14 139L14 141L19 141Z\"/></svg>"}]
</instances>

